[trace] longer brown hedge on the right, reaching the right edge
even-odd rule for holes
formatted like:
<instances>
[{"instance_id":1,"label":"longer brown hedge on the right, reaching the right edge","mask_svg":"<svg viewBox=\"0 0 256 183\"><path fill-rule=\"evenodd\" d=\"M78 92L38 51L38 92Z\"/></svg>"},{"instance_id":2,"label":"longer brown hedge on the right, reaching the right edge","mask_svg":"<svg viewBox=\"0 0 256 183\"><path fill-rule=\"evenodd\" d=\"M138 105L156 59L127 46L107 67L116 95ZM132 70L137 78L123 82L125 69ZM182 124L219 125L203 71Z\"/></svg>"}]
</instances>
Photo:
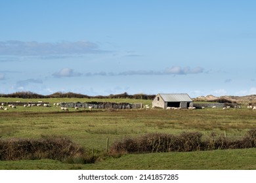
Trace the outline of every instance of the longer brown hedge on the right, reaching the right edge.
<instances>
[{"instance_id":1,"label":"longer brown hedge on the right, reaching the right edge","mask_svg":"<svg viewBox=\"0 0 256 183\"><path fill-rule=\"evenodd\" d=\"M256 147L256 129L248 131L244 138L236 141L231 141L223 135L216 138L214 133L205 141L202 141L201 137L202 133L199 132L183 132L177 136L165 133L150 133L137 138L125 137L122 141L114 142L110 148L110 154L190 152Z\"/></svg>"}]
</instances>

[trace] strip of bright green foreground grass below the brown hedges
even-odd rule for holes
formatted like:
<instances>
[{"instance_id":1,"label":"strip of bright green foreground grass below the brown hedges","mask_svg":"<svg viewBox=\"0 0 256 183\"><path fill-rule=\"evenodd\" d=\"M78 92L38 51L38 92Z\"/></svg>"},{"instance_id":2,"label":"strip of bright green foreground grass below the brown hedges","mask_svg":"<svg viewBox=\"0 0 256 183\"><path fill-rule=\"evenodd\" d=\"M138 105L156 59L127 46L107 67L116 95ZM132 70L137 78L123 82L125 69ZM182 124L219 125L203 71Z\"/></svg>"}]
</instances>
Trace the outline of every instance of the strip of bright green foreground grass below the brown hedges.
<instances>
[{"instance_id":1,"label":"strip of bright green foreground grass below the brown hedges","mask_svg":"<svg viewBox=\"0 0 256 183\"><path fill-rule=\"evenodd\" d=\"M93 164L68 164L51 159L0 161L0 169L85 169L85 170L255 170L256 150L214 150L129 154L106 158Z\"/></svg>"}]
</instances>

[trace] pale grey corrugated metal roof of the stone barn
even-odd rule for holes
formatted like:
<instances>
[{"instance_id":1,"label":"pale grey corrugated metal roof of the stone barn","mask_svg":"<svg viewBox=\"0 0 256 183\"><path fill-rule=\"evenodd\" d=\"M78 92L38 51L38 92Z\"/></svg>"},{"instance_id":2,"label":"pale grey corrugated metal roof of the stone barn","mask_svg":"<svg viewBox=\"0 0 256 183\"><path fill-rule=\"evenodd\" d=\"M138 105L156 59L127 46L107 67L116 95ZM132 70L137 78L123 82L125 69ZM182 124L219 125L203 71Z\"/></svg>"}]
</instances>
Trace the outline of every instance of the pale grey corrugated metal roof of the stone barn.
<instances>
[{"instance_id":1,"label":"pale grey corrugated metal roof of the stone barn","mask_svg":"<svg viewBox=\"0 0 256 183\"><path fill-rule=\"evenodd\" d=\"M159 93L166 102L192 102L192 99L186 93Z\"/></svg>"}]
</instances>

